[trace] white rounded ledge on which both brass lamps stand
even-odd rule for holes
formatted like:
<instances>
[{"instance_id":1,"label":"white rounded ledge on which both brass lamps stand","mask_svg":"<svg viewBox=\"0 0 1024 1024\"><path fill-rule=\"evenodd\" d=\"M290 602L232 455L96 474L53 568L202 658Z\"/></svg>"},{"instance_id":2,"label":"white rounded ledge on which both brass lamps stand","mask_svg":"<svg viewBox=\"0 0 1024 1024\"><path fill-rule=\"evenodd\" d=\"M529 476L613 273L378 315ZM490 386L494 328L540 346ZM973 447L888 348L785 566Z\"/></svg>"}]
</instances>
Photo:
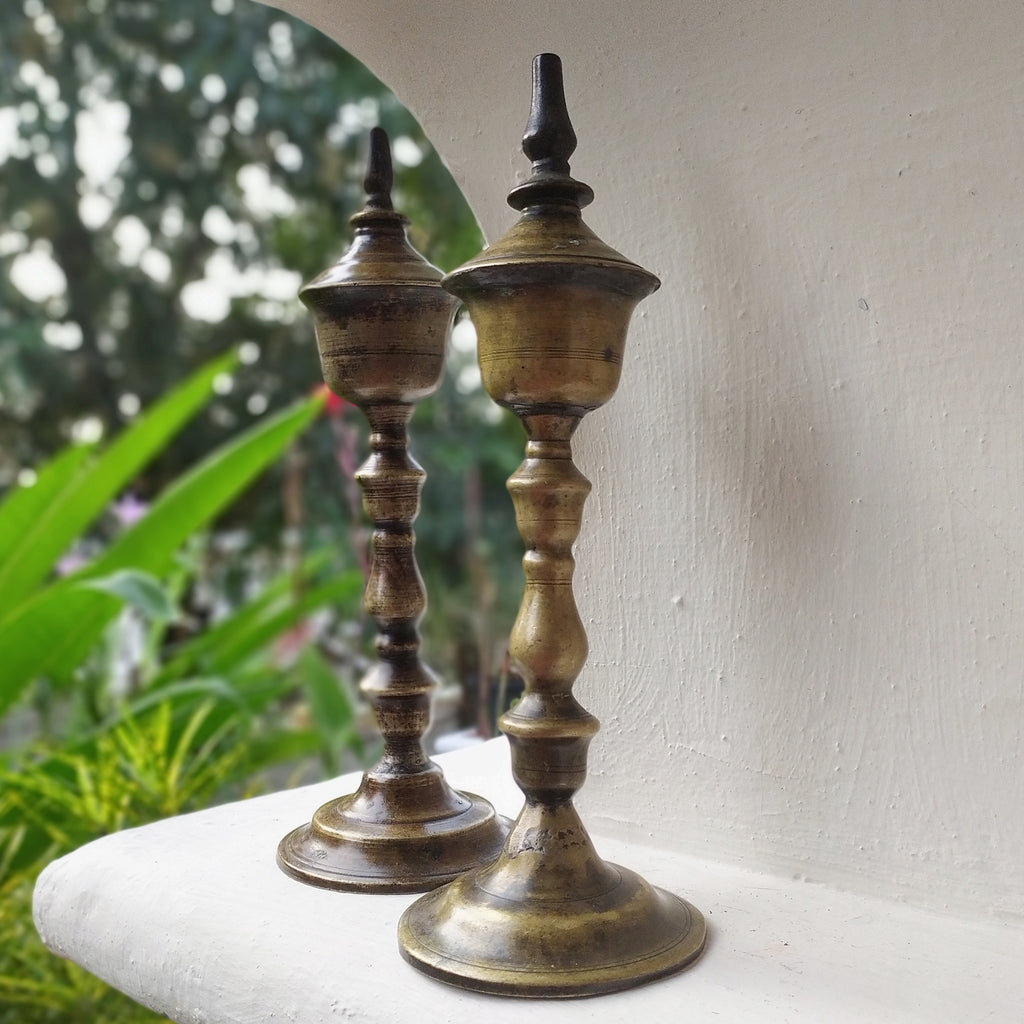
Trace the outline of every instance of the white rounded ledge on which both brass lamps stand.
<instances>
[{"instance_id":1,"label":"white rounded ledge on which both brass lamps stand","mask_svg":"<svg viewBox=\"0 0 1024 1024\"><path fill-rule=\"evenodd\" d=\"M438 759L452 781L515 814L504 739ZM567 1002L462 992L399 957L415 897L330 893L274 864L279 839L357 776L111 836L36 888L46 944L181 1024L575 1021L1016 1024L1024 929L963 922L675 851L602 839L602 856L686 896L709 947L690 970Z\"/></svg>"}]
</instances>

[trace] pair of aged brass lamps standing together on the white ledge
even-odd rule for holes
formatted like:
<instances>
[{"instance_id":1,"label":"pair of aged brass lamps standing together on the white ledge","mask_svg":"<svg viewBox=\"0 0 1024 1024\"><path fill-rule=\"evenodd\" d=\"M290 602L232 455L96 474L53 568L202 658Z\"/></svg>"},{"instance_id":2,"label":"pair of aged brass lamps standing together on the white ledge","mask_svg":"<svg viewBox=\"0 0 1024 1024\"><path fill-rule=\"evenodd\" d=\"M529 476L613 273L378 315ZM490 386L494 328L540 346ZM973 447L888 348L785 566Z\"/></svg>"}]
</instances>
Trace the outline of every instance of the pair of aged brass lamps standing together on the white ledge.
<instances>
[{"instance_id":1,"label":"pair of aged brass lamps standing together on the white ledge","mask_svg":"<svg viewBox=\"0 0 1024 1024\"><path fill-rule=\"evenodd\" d=\"M508 197L519 220L442 278L408 242L408 220L391 204L387 136L374 129L354 241L301 293L325 381L370 424L357 479L374 526L365 606L379 635L361 689L384 753L355 793L282 840L278 861L328 889L425 892L399 923L402 956L441 981L503 995L627 988L681 970L706 936L685 900L602 860L572 804L598 722L572 695L587 658L572 544L590 482L573 465L571 437L614 393L629 317L659 284L583 222L594 194L569 175L575 143L561 62L541 54L523 136L532 173ZM525 797L511 824L453 790L422 745L435 678L419 655L426 598L413 520L424 473L407 424L439 384L460 300L476 327L483 385L527 436L508 483L526 547L509 644L525 691L500 722Z\"/></svg>"}]
</instances>

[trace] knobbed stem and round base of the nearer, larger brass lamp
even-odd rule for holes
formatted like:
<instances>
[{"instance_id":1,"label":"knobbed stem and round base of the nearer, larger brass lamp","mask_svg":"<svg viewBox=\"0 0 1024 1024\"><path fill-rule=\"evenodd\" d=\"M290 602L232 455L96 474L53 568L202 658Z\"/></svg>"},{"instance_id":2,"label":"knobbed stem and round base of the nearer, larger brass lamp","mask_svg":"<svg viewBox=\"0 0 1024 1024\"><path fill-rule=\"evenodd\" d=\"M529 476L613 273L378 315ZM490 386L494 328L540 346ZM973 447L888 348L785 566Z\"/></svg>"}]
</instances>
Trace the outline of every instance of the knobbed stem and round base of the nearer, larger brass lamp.
<instances>
[{"instance_id":1,"label":"knobbed stem and round base of the nearer, larger brass lamp","mask_svg":"<svg viewBox=\"0 0 1024 1024\"><path fill-rule=\"evenodd\" d=\"M525 804L501 856L402 915L402 955L441 981L504 995L573 996L673 974L705 925L685 900L601 859L573 806L597 719L572 684L587 634L572 595L572 544L590 483L572 462L573 411L519 413L526 458L509 479L526 546L510 652L525 682L502 717Z\"/></svg>"}]
</instances>

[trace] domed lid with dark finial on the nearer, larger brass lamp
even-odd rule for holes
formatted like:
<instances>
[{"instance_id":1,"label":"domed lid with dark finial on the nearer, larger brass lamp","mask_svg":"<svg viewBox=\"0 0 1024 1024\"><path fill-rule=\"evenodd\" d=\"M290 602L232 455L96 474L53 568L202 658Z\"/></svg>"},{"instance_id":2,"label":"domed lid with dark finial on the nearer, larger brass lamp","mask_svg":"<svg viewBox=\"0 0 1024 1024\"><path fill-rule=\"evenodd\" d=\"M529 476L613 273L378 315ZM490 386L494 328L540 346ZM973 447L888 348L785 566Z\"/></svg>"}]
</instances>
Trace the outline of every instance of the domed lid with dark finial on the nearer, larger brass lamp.
<instances>
[{"instance_id":1,"label":"domed lid with dark finial on the nearer, larger brass lamp","mask_svg":"<svg viewBox=\"0 0 1024 1024\"><path fill-rule=\"evenodd\" d=\"M487 288L526 282L587 283L633 295L649 295L660 282L602 242L583 221L593 199L590 185L569 175L575 132L565 106L562 62L554 53L534 58L534 96L522 151L532 162L528 180L509 193L519 220L494 245L453 270L442 286L460 298Z\"/></svg>"}]
</instances>

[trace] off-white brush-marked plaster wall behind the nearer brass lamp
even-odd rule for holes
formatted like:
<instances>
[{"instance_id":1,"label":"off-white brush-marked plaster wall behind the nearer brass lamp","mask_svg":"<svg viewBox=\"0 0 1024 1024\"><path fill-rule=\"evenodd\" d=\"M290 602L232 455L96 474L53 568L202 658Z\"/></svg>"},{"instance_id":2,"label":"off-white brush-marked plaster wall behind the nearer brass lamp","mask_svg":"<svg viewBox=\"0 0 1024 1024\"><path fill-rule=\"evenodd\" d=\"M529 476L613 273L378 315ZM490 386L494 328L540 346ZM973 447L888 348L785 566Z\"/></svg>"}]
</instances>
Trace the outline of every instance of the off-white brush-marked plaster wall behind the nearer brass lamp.
<instances>
[{"instance_id":1,"label":"off-white brush-marked plaster wall behind the nearer brass lamp","mask_svg":"<svg viewBox=\"0 0 1024 1024\"><path fill-rule=\"evenodd\" d=\"M554 50L657 272L585 422L590 820L1024 915L1024 4L287 0L485 232Z\"/></svg>"}]
</instances>

